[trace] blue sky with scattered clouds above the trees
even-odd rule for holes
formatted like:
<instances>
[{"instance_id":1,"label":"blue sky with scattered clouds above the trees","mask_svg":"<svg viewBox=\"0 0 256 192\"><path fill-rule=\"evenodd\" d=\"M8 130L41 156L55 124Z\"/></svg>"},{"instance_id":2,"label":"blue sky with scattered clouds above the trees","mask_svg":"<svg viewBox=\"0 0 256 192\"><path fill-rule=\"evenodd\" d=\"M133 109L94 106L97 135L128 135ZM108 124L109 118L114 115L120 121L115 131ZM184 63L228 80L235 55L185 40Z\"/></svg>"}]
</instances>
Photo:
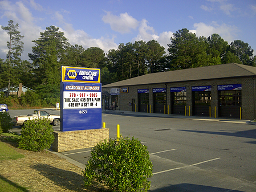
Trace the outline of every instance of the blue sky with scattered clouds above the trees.
<instances>
[{"instance_id":1,"label":"blue sky with scattered clouds above the trees","mask_svg":"<svg viewBox=\"0 0 256 192\"><path fill-rule=\"evenodd\" d=\"M256 55L256 0L0 0L0 26L10 20L24 35L23 60L29 60L32 40L50 26L59 27L71 45L99 47L105 54L120 43L153 39L168 53L173 33L187 28L197 36L217 33L229 44L242 40ZM7 40L0 28L1 59Z\"/></svg>"}]
</instances>

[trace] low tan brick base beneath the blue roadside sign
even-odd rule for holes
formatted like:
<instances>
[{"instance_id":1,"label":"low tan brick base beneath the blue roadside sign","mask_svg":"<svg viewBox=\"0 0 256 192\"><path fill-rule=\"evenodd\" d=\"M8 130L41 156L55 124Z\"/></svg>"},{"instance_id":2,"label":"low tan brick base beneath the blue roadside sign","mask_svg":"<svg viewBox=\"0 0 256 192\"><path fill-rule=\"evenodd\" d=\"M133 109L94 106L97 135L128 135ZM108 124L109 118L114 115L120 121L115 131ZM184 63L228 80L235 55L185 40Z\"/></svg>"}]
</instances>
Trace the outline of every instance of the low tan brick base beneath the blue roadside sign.
<instances>
[{"instance_id":1,"label":"low tan brick base beneath the blue roadside sign","mask_svg":"<svg viewBox=\"0 0 256 192\"><path fill-rule=\"evenodd\" d=\"M100 141L109 138L109 129L86 129L67 132L54 131L52 149L55 152L92 148Z\"/></svg>"}]
</instances>

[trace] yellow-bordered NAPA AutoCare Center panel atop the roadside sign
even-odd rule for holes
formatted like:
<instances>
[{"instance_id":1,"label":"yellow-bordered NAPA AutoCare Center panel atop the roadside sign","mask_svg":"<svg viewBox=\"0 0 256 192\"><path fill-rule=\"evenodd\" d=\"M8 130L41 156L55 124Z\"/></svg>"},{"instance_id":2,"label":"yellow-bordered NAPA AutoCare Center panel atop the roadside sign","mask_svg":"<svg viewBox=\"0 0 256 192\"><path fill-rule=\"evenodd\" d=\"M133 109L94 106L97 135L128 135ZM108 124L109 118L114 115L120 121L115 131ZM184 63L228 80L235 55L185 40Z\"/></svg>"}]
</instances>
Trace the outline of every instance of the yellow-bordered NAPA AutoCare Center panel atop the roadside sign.
<instances>
[{"instance_id":1,"label":"yellow-bordered NAPA AutoCare Center panel atop the roadside sign","mask_svg":"<svg viewBox=\"0 0 256 192\"><path fill-rule=\"evenodd\" d=\"M62 66L62 81L100 83L100 69Z\"/></svg>"}]
</instances>

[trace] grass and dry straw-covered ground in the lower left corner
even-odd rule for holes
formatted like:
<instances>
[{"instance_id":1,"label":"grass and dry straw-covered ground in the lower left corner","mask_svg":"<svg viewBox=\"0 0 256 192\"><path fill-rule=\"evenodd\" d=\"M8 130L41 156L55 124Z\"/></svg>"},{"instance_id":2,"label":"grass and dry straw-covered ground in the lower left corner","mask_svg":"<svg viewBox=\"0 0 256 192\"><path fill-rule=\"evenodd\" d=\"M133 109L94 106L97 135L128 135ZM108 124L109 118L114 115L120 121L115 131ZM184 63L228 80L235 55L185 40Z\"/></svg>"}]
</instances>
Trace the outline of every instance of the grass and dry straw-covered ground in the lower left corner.
<instances>
[{"instance_id":1,"label":"grass and dry straw-covered ground in the lower left corner","mask_svg":"<svg viewBox=\"0 0 256 192\"><path fill-rule=\"evenodd\" d=\"M84 187L83 169L44 150L17 148L19 136L0 135L0 191L2 192L99 192L104 185Z\"/></svg>"}]
</instances>

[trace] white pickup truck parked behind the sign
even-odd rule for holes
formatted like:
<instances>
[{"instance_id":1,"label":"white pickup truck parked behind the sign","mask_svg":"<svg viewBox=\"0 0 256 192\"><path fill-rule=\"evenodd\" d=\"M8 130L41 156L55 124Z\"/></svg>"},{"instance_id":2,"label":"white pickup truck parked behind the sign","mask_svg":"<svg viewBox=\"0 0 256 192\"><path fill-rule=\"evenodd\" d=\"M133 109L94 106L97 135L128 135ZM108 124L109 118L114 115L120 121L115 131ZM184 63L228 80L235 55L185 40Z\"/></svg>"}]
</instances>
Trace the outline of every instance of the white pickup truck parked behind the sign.
<instances>
[{"instance_id":1,"label":"white pickup truck parked behind the sign","mask_svg":"<svg viewBox=\"0 0 256 192\"><path fill-rule=\"evenodd\" d=\"M24 125L24 122L27 120L32 120L32 119L39 119L42 117L46 117L47 119L50 119L50 123L56 125L60 124L60 116L59 115L51 115L50 113L47 113L46 111L41 111L41 110L35 110L33 114L29 114L26 116L14 116L13 117L13 124L14 125Z\"/></svg>"}]
</instances>

